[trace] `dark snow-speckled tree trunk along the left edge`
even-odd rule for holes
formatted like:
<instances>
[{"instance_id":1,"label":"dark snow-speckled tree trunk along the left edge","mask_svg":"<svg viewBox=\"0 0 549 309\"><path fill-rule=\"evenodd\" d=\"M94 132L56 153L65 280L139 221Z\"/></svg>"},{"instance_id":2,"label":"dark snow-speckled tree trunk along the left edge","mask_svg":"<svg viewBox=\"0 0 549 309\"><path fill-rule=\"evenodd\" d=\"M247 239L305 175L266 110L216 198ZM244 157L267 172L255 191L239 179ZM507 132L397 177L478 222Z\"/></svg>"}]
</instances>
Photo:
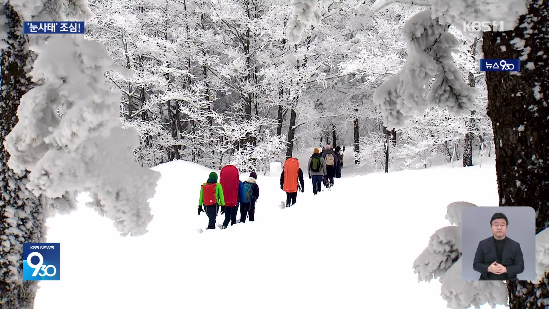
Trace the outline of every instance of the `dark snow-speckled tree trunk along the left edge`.
<instances>
[{"instance_id":1,"label":"dark snow-speckled tree trunk along the left edge","mask_svg":"<svg viewBox=\"0 0 549 309\"><path fill-rule=\"evenodd\" d=\"M41 200L25 187L26 175L15 174L8 167L10 155L4 140L19 120L21 96L34 86L26 69L32 65L32 55L18 13L9 4L0 11L7 18L9 45L2 49L0 59L0 308L31 309L37 282L22 280L22 243L45 241L44 212Z\"/></svg>"}]
</instances>

